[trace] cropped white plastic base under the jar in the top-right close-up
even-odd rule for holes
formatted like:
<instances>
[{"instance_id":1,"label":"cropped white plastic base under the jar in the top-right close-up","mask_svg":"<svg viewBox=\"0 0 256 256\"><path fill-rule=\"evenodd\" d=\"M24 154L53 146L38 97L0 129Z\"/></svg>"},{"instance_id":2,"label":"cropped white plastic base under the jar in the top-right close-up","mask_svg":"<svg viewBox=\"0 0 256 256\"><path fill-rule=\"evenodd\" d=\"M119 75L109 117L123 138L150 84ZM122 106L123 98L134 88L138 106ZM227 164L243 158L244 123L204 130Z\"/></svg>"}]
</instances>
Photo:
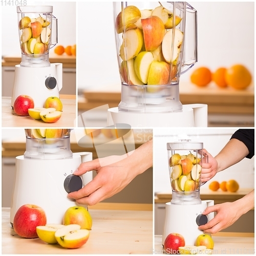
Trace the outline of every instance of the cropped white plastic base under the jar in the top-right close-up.
<instances>
[{"instance_id":1,"label":"cropped white plastic base under the jar in the top-right close-up","mask_svg":"<svg viewBox=\"0 0 256 256\"><path fill-rule=\"evenodd\" d=\"M134 113L108 110L108 126L127 123L132 127L207 127L207 105L187 104L177 112L167 113Z\"/></svg>"}]
</instances>

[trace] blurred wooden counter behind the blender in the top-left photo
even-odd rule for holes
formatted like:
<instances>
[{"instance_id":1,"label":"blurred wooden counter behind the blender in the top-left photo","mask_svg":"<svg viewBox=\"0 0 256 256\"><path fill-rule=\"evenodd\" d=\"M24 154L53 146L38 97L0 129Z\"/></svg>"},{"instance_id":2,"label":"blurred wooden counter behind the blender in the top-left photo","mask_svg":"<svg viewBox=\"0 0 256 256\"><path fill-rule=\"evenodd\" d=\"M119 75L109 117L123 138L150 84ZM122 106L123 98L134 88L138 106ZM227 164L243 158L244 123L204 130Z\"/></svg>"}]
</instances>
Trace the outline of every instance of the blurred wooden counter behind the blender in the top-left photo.
<instances>
[{"instance_id":1,"label":"blurred wooden counter behind the blender in the top-left photo","mask_svg":"<svg viewBox=\"0 0 256 256\"><path fill-rule=\"evenodd\" d=\"M3 67L14 67L22 61L21 53L19 56L4 56L2 59ZM55 53L49 54L50 63L62 63L63 68L76 68L76 56L69 56L67 54L57 55Z\"/></svg>"}]
</instances>

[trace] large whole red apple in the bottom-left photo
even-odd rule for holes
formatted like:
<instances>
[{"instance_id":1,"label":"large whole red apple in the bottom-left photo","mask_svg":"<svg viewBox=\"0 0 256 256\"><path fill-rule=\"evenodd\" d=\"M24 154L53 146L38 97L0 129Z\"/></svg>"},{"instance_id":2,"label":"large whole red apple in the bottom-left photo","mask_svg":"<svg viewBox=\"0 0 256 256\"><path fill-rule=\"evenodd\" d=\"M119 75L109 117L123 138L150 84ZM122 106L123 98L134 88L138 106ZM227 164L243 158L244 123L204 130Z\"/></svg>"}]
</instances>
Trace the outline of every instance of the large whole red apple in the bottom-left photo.
<instances>
[{"instance_id":1,"label":"large whole red apple in the bottom-left photo","mask_svg":"<svg viewBox=\"0 0 256 256\"><path fill-rule=\"evenodd\" d=\"M20 206L13 219L14 231L23 238L38 238L36 227L47 223L44 209L34 204Z\"/></svg>"}]
</instances>

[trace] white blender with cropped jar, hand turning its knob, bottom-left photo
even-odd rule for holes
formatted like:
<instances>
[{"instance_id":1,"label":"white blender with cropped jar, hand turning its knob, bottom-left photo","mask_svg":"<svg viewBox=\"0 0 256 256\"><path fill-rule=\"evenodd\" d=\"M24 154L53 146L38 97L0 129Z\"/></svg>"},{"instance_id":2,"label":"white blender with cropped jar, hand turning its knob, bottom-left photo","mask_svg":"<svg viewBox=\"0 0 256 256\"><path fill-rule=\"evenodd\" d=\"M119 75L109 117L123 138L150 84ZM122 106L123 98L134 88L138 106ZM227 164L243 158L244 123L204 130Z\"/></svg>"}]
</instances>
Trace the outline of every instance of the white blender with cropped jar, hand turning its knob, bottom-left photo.
<instances>
[{"instance_id":1,"label":"white blender with cropped jar, hand turning its knob, bottom-left photo","mask_svg":"<svg viewBox=\"0 0 256 256\"><path fill-rule=\"evenodd\" d=\"M26 152L16 157L10 222L18 208L35 204L45 210L47 223L62 224L65 211L78 205L67 197L92 180L92 172L73 175L82 162L92 160L91 152L72 153L68 129L50 129L55 138L40 138L38 130L26 129ZM42 131L44 132L44 131ZM87 208L87 205L82 205Z\"/></svg>"}]
</instances>

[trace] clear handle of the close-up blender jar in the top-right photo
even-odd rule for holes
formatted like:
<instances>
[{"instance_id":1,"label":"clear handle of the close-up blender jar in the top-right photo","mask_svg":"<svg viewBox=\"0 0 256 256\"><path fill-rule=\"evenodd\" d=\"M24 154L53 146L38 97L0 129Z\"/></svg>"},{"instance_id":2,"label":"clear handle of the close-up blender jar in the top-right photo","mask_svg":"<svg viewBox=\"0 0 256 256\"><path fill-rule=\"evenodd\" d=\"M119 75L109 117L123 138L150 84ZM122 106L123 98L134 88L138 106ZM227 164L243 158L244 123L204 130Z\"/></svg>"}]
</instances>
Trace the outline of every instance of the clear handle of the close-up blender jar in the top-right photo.
<instances>
[{"instance_id":1,"label":"clear handle of the close-up blender jar in the top-right photo","mask_svg":"<svg viewBox=\"0 0 256 256\"><path fill-rule=\"evenodd\" d=\"M197 10L186 3L186 24L184 31L183 60L181 74L193 67L198 61L197 47Z\"/></svg>"}]
</instances>

